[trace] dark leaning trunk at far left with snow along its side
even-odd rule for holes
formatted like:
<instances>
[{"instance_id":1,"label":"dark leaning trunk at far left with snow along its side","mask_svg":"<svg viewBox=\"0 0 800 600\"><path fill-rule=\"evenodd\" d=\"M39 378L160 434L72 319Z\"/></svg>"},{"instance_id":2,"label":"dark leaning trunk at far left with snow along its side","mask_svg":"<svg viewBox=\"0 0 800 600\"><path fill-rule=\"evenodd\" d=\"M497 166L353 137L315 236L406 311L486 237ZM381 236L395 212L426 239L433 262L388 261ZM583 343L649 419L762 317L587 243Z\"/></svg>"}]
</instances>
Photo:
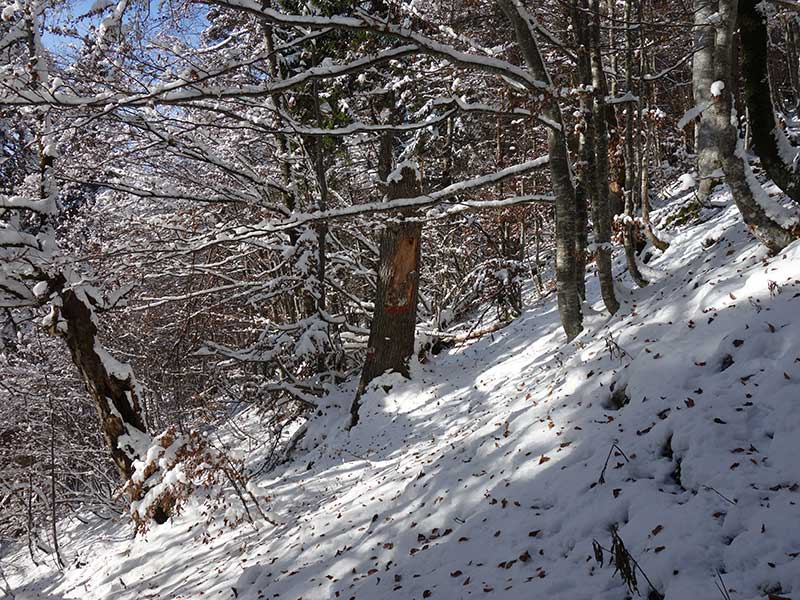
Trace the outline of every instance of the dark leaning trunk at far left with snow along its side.
<instances>
[{"instance_id":1,"label":"dark leaning trunk at far left with snow along its side","mask_svg":"<svg viewBox=\"0 0 800 600\"><path fill-rule=\"evenodd\" d=\"M128 365L118 363L100 345L93 311L85 292L66 288L62 275L56 278L53 287L61 298L61 306L56 309L51 332L66 342L72 362L78 367L86 391L97 407L100 427L111 458L122 479L130 479L133 459L137 457L139 448L125 445L127 440L123 436L130 441L136 441L137 438L149 440L150 437L142 420L133 372Z\"/></svg>"}]
</instances>

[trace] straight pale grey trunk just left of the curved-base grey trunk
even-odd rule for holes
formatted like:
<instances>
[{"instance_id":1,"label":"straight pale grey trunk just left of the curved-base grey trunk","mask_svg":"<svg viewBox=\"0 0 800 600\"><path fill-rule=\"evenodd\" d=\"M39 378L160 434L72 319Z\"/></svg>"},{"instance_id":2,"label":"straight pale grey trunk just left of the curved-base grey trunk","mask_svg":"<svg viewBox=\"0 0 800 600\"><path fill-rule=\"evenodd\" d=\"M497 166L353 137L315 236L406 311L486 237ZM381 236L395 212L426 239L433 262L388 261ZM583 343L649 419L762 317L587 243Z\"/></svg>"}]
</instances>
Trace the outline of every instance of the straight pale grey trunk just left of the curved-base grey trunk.
<instances>
[{"instance_id":1,"label":"straight pale grey trunk just left of the curved-base grey trunk","mask_svg":"<svg viewBox=\"0 0 800 600\"><path fill-rule=\"evenodd\" d=\"M699 48L692 57L692 95L694 105L705 107L712 101L711 84L714 83L714 28L709 19L717 11L716 0L694 0L694 44ZM700 178L700 195L705 197L716 182L714 173L721 166L718 147L714 142L711 117L705 113L695 122L695 152L697 173Z\"/></svg>"}]
</instances>

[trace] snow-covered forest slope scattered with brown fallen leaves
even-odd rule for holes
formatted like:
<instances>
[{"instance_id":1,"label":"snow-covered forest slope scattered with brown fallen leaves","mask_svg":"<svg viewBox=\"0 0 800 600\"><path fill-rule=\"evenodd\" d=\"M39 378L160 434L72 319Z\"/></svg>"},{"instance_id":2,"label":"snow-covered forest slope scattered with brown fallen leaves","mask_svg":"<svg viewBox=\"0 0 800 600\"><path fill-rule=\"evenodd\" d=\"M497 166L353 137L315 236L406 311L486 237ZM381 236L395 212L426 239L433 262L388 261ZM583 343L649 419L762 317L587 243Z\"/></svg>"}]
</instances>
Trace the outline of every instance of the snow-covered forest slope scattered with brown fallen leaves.
<instances>
[{"instance_id":1,"label":"snow-covered forest slope scattered with brown fallen leaves","mask_svg":"<svg viewBox=\"0 0 800 600\"><path fill-rule=\"evenodd\" d=\"M551 296L370 392L352 431L353 390L327 398L294 461L258 482L279 526L203 544L192 510L136 539L124 521L73 522L66 570L19 550L2 558L8 585L17 599L620 600L593 550L616 527L670 600L800 598L800 243L767 258L730 200L713 204L669 232L650 286L621 277L614 318L590 276L573 343Z\"/></svg>"}]
</instances>

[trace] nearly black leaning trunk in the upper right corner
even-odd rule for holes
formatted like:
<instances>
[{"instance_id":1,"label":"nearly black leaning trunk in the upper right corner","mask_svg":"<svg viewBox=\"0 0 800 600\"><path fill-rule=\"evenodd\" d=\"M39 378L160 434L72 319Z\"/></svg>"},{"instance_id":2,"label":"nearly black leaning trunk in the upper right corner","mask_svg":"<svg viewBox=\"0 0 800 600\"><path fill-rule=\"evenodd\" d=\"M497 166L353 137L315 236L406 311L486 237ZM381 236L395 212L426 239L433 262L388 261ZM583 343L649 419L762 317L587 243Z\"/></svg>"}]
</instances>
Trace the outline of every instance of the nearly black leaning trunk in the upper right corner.
<instances>
[{"instance_id":1,"label":"nearly black leaning trunk in the upper right corner","mask_svg":"<svg viewBox=\"0 0 800 600\"><path fill-rule=\"evenodd\" d=\"M787 164L778 147L783 137L775 121L769 79L769 35L766 17L755 0L739 0L739 30L742 44L744 99L750 119L753 149L767 175L795 202L800 202L800 174ZM788 145L788 140L783 140Z\"/></svg>"}]
</instances>

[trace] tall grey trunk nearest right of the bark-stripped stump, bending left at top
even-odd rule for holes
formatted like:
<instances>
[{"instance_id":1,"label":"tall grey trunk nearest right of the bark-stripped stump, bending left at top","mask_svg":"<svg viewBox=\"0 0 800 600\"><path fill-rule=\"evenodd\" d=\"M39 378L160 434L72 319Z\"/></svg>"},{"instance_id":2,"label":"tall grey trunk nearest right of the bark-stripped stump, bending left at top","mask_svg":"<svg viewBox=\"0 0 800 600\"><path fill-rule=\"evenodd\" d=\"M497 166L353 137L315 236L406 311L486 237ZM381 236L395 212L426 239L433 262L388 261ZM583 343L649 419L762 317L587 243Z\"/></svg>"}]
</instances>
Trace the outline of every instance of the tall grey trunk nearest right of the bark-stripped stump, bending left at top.
<instances>
[{"instance_id":1,"label":"tall grey trunk nearest right of the bark-stripped stump, bending left at top","mask_svg":"<svg viewBox=\"0 0 800 600\"><path fill-rule=\"evenodd\" d=\"M552 86L550 74L539 52L530 19L524 13L524 8L515 0L498 0L498 4L514 27L517 43L533 76ZM550 181L556 205L556 293L561 324L567 339L572 340L583 330L575 256L577 237L575 188L572 184L561 107L549 93L545 95L542 113L554 124L547 128L547 145L550 154Z\"/></svg>"}]
</instances>

